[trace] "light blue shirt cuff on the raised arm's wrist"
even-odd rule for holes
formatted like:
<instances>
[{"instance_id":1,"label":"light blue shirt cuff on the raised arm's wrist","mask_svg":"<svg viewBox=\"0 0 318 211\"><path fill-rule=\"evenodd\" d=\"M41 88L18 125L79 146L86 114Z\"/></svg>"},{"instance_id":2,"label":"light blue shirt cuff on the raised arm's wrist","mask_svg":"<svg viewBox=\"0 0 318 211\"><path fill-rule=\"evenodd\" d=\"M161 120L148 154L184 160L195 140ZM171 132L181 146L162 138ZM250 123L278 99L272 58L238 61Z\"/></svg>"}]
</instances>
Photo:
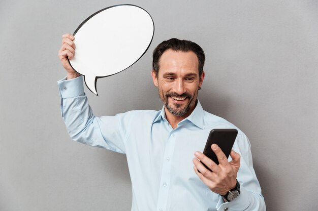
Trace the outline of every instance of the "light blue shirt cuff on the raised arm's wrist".
<instances>
[{"instance_id":1,"label":"light blue shirt cuff on the raised arm's wrist","mask_svg":"<svg viewBox=\"0 0 318 211\"><path fill-rule=\"evenodd\" d=\"M83 76L67 80L63 78L57 81L59 96L61 98L74 98L84 93Z\"/></svg>"}]
</instances>

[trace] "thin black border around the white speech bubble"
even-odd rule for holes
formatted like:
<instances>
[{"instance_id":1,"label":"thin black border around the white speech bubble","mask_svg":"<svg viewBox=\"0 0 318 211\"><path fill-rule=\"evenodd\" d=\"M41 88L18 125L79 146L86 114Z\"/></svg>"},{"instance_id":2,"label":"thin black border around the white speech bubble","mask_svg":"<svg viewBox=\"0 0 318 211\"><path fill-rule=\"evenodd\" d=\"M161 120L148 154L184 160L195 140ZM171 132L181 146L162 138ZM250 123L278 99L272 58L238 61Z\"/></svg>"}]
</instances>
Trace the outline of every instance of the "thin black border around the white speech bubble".
<instances>
[{"instance_id":1,"label":"thin black border around the white speech bubble","mask_svg":"<svg viewBox=\"0 0 318 211\"><path fill-rule=\"evenodd\" d=\"M131 4L113 5L113 6L104 8L104 9L102 9L102 10L99 10L99 11L97 11L96 13L93 13L92 15L90 15L88 18L86 18L86 19L77 27L77 29L74 31L73 36L75 37L76 32L77 32L89 19L91 19L92 17L96 16L96 15L99 14L100 12L103 12L104 10L107 10L107 9L110 9L110 8L113 8L113 7L118 7L118 6L134 6L134 7L140 8L140 9L144 10L146 13L148 13L145 9L143 9L143 8L137 6L137 5L131 5ZM143 57L143 55L148 51L148 49L149 49L149 47L150 47L150 44L151 44L151 42L152 42L153 35L154 35L154 22L153 22L153 19L152 19L151 15L150 15L149 13L148 13L148 15L150 16L151 21L152 21L152 24L153 24L153 33L152 33L152 36L151 36L151 40L150 40L150 42L149 42L149 45L148 45L147 49L145 50L145 52L144 52L133 64L131 64L129 67L126 67L125 69L128 69L128 68L130 68L132 65L134 65L141 57ZM77 72L77 73L80 74L80 75L83 75L83 74L79 73L78 71L76 71L76 69L72 66L72 64L71 64L71 62L70 62L70 60L69 60L69 58L68 58L68 61L69 61L69 64L71 65L71 67L75 70L75 72ZM119 72L122 72L122 71L124 71L125 69L123 69L123 70L121 70L121 71L119 71ZM117 74L117 73L119 73L119 72L116 72L116 73L111 74L111 75L96 76L96 77L95 77L94 88L95 88L95 91L96 91L96 95L97 95L97 96L98 96L97 87L96 87L96 86L97 86L97 79L98 79L98 78L103 78L103 77L112 76L112 75L115 75L115 74ZM86 80L85 80L85 75L83 75L83 76L84 76L84 82L85 82L86 87L88 88L88 90L89 90L90 92L94 93L94 92L91 91L90 88L87 86ZM95 93L94 93L94 94L95 94Z\"/></svg>"}]
</instances>

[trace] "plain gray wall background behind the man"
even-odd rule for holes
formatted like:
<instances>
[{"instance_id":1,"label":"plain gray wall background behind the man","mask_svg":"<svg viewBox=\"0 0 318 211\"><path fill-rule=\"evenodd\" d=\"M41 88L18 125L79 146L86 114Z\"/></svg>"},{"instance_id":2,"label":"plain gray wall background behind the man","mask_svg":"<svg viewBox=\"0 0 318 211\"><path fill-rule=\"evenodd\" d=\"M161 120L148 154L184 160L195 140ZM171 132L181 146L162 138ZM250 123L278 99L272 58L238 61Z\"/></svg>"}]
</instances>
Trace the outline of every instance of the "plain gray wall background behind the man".
<instances>
[{"instance_id":1,"label":"plain gray wall background behind the man","mask_svg":"<svg viewBox=\"0 0 318 211\"><path fill-rule=\"evenodd\" d=\"M149 51L87 92L96 115L162 108L151 52L162 40L190 39L206 53L199 99L249 137L267 210L318 206L318 2L0 2L0 210L130 210L125 156L68 137L56 81L57 52L92 13L136 4L155 23Z\"/></svg>"}]
</instances>

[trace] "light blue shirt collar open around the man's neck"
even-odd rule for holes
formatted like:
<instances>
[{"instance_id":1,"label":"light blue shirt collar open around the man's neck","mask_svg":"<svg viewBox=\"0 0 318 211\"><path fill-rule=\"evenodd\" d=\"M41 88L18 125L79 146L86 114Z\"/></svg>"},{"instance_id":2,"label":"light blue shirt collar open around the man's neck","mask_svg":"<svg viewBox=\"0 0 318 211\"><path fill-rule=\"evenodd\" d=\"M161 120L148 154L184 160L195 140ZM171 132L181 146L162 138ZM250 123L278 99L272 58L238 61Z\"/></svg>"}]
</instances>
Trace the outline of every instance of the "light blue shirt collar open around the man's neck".
<instances>
[{"instance_id":1,"label":"light blue shirt collar open around the man's neck","mask_svg":"<svg viewBox=\"0 0 318 211\"><path fill-rule=\"evenodd\" d=\"M153 123L156 121L160 121L161 119L164 119L165 121L168 122L168 120L166 119L165 106L163 106L163 108L161 109L161 112L158 113L156 118L153 120ZM193 110L193 112L188 117L186 117L185 119L183 119L179 123L184 122L184 121L190 121L193 124L195 124L196 126L198 126L199 128L204 129L204 110L203 110L199 100L198 100L198 103L196 105L195 110Z\"/></svg>"}]
</instances>

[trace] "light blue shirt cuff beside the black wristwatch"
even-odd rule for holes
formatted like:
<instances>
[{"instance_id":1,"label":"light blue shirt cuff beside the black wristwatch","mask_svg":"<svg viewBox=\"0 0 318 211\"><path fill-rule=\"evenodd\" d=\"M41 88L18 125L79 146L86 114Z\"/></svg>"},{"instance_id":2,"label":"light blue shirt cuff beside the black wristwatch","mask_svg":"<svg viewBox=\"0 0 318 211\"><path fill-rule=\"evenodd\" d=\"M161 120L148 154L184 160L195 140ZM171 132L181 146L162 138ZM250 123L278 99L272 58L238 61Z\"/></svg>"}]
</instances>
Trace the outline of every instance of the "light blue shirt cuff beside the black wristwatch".
<instances>
[{"instance_id":1,"label":"light blue shirt cuff beside the black wristwatch","mask_svg":"<svg viewBox=\"0 0 318 211\"><path fill-rule=\"evenodd\" d=\"M250 196L248 191L241 186L240 187L240 195L234 201L224 202L223 197L220 196L216 205L216 209L218 211L223 210L233 210L233 211L240 211L245 210L250 204Z\"/></svg>"}]
</instances>

